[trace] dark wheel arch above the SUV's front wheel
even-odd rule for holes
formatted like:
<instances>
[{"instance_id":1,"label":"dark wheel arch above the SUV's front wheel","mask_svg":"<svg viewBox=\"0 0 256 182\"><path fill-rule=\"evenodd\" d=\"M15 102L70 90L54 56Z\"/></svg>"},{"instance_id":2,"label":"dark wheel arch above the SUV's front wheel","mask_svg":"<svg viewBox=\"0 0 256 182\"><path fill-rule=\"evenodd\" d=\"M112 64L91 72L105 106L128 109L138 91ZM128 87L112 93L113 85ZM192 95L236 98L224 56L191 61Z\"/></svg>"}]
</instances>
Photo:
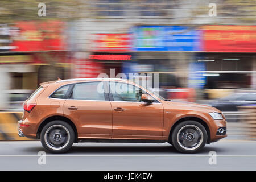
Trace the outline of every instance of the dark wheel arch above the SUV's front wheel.
<instances>
[{"instance_id":1,"label":"dark wheel arch above the SUV's front wheel","mask_svg":"<svg viewBox=\"0 0 256 182\"><path fill-rule=\"evenodd\" d=\"M210 143L210 129L209 129L209 126L207 125L207 123L203 119L197 118L197 117L194 117L194 116L193 117L189 116L189 117L181 118L181 119L177 120L174 123L174 125L172 125L170 133L169 133L169 137L168 137L169 142L172 143L171 134L172 134L172 131L175 129L175 127L177 125L179 125L179 123L184 122L184 121L188 121L188 120L199 122L201 125L204 126L205 130L207 131L207 143L209 144Z\"/></svg>"}]
</instances>

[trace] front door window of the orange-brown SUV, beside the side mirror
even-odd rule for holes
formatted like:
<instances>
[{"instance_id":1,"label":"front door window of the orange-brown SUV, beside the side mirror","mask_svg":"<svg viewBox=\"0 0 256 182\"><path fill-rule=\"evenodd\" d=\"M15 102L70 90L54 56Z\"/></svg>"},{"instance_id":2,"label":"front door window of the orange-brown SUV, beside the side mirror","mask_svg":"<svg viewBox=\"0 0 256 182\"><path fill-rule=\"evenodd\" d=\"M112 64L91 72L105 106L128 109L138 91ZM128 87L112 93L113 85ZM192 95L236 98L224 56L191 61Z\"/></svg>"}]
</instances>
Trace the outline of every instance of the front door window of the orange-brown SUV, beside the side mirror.
<instances>
[{"instance_id":1,"label":"front door window of the orange-brown SUV, beside the side mirror","mask_svg":"<svg viewBox=\"0 0 256 182\"><path fill-rule=\"evenodd\" d=\"M141 102L142 89L134 85L110 82L110 92L114 101Z\"/></svg>"}]
</instances>

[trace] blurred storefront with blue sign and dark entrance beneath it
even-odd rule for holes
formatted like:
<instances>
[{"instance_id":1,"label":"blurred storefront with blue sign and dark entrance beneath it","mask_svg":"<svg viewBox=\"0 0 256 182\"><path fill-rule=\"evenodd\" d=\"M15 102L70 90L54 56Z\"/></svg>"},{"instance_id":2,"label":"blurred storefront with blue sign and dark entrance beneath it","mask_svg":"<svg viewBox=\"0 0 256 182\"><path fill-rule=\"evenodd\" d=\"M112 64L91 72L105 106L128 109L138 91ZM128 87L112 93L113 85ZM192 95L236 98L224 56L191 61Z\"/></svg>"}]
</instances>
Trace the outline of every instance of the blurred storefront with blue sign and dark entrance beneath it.
<instances>
[{"instance_id":1,"label":"blurred storefront with blue sign and dark entrance beneath it","mask_svg":"<svg viewBox=\"0 0 256 182\"><path fill-rule=\"evenodd\" d=\"M188 26L131 28L136 72L158 73L159 87L187 87L188 64L201 51L200 30ZM141 70L139 70L141 69Z\"/></svg>"}]
</instances>

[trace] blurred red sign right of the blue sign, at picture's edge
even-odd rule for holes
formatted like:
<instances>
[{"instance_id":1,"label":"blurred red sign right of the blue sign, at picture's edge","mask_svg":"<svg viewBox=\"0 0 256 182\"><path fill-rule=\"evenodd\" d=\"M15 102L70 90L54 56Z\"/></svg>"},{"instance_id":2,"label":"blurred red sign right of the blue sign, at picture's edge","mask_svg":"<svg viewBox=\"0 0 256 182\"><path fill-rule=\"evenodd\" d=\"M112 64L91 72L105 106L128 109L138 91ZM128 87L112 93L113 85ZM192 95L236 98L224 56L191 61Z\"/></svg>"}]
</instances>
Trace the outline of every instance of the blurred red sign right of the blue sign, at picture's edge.
<instances>
[{"instance_id":1,"label":"blurred red sign right of the blue sign, at picture's edge","mask_svg":"<svg viewBox=\"0 0 256 182\"><path fill-rule=\"evenodd\" d=\"M256 26L204 26L207 52L256 52Z\"/></svg>"}]
</instances>

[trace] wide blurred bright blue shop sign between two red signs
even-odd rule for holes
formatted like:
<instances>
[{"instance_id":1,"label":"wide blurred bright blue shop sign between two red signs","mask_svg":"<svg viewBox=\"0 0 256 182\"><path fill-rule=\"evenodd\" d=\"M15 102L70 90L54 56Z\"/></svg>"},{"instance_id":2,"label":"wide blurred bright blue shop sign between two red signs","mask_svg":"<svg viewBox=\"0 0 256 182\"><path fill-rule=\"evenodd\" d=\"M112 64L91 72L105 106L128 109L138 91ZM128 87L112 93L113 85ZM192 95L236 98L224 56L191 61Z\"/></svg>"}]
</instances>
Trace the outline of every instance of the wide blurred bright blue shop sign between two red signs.
<instances>
[{"instance_id":1,"label":"wide blurred bright blue shop sign between two red signs","mask_svg":"<svg viewBox=\"0 0 256 182\"><path fill-rule=\"evenodd\" d=\"M201 51L201 30L187 26L131 28L134 51Z\"/></svg>"}]
</instances>

